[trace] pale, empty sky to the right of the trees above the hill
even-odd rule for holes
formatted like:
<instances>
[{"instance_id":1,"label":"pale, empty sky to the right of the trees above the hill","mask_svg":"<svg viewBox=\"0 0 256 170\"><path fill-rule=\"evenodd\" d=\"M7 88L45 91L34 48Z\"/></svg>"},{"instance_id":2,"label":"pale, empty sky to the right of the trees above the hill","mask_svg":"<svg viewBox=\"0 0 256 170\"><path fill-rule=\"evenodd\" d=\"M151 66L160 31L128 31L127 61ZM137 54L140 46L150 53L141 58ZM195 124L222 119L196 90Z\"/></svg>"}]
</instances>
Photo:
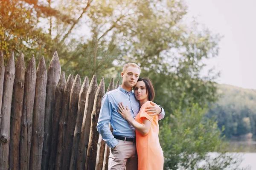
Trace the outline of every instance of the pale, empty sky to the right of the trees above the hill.
<instances>
[{"instance_id":1,"label":"pale, empty sky to the right of the trees above the hill","mask_svg":"<svg viewBox=\"0 0 256 170\"><path fill-rule=\"evenodd\" d=\"M192 17L224 36L219 54L205 63L221 72L218 83L256 89L256 0L186 0Z\"/></svg>"}]
</instances>

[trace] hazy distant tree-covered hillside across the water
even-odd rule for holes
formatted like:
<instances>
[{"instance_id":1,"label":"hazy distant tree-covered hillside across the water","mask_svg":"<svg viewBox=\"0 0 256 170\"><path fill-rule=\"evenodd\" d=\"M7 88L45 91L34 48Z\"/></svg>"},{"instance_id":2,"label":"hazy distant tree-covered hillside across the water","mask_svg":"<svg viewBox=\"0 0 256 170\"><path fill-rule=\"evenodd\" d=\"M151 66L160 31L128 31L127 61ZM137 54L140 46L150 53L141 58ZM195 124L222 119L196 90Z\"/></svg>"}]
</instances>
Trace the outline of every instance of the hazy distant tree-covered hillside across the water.
<instances>
[{"instance_id":1,"label":"hazy distant tree-covered hillside across the water","mask_svg":"<svg viewBox=\"0 0 256 170\"><path fill-rule=\"evenodd\" d=\"M256 91L231 85L218 85L219 101L211 106L207 117L214 117L222 135L242 137L256 134Z\"/></svg>"}]
</instances>

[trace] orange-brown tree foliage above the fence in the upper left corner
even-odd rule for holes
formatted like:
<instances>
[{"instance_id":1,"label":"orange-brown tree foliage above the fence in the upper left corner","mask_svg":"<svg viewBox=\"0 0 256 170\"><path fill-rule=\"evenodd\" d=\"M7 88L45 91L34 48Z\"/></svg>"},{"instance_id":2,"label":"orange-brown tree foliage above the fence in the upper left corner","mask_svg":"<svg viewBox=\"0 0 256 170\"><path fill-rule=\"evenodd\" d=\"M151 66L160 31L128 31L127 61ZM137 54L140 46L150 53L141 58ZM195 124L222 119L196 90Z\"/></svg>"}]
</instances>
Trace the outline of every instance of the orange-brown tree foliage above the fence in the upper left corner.
<instances>
[{"instance_id":1,"label":"orange-brown tree foliage above the fence in the upper left corner","mask_svg":"<svg viewBox=\"0 0 256 170\"><path fill-rule=\"evenodd\" d=\"M54 41L51 34L39 27L38 23L39 20L52 16L58 17L62 22L73 22L70 17L44 2L0 0L0 50L4 52L5 59L9 57L9 51L14 51L15 57L23 52L26 62L32 54L37 60L44 55L46 62L49 62L52 56L48 56L53 54Z\"/></svg>"}]
</instances>

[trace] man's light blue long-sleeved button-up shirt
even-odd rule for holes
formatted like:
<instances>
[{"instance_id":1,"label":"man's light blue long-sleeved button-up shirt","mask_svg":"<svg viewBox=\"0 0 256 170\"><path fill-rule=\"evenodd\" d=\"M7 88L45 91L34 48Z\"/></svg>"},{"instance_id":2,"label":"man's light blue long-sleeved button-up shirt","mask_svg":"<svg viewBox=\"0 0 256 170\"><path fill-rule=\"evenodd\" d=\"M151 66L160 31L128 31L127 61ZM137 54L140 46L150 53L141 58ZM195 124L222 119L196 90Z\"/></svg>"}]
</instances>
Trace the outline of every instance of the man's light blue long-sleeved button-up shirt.
<instances>
[{"instance_id":1,"label":"man's light blue long-sleeved button-up shirt","mask_svg":"<svg viewBox=\"0 0 256 170\"><path fill-rule=\"evenodd\" d=\"M124 106L128 106L131 116L135 118L140 111L140 103L134 96L134 91L126 91L119 88L109 91L102 98L102 105L97 123L97 130L102 135L102 139L109 147L115 147L118 142L113 135L123 136L127 138L135 137L135 128L117 112L118 103L122 102ZM159 119L163 119L164 110L160 113ZM113 128L113 134L109 129L109 122Z\"/></svg>"}]
</instances>

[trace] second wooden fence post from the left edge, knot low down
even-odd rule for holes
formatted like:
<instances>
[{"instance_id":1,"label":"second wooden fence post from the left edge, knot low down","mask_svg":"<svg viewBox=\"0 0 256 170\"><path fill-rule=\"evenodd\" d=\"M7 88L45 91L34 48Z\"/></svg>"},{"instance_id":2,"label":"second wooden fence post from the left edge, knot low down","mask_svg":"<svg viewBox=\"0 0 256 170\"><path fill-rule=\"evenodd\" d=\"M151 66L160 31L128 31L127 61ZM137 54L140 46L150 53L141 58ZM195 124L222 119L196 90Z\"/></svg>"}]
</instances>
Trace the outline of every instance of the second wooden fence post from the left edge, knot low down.
<instances>
[{"instance_id":1,"label":"second wooden fence post from the left edge, knot low down","mask_svg":"<svg viewBox=\"0 0 256 170\"><path fill-rule=\"evenodd\" d=\"M12 91L15 79L15 62L13 51L5 68L3 83L2 122L0 128L0 170L8 169L10 145L10 119L12 105Z\"/></svg>"}]
</instances>

